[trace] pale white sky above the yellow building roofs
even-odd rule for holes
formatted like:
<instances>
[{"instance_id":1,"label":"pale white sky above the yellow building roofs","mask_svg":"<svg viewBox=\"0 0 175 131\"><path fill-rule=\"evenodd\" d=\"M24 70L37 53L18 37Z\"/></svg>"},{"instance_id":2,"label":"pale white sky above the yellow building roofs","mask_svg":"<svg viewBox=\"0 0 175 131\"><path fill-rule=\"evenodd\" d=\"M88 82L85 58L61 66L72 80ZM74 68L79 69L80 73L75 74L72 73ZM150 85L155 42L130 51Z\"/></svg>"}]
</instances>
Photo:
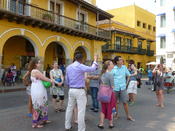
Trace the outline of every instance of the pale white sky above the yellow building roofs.
<instances>
[{"instance_id":1,"label":"pale white sky above the yellow building roofs","mask_svg":"<svg viewBox=\"0 0 175 131\"><path fill-rule=\"evenodd\" d=\"M146 9L156 14L155 2L154 2L155 0L96 0L96 1L97 6L103 10L109 10L135 4L143 9Z\"/></svg>"}]
</instances>

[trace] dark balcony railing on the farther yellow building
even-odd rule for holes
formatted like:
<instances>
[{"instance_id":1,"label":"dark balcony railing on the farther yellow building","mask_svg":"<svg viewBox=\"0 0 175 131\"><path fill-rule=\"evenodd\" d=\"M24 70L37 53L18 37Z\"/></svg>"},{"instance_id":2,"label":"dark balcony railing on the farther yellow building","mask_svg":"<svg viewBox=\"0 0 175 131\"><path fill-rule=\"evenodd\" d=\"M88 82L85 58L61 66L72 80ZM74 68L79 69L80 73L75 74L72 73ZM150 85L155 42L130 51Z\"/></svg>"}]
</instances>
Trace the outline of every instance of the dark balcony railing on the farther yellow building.
<instances>
[{"instance_id":1,"label":"dark balcony railing on the farther yellow building","mask_svg":"<svg viewBox=\"0 0 175 131\"><path fill-rule=\"evenodd\" d=\"M103 52L120 52L120 53L129 53L129 54L140 54L145 55L146 49L141 49L138 47L129 47L124 45L112 45L112 44L106 44L102 46Z\"/></svg>"}]
</instances>

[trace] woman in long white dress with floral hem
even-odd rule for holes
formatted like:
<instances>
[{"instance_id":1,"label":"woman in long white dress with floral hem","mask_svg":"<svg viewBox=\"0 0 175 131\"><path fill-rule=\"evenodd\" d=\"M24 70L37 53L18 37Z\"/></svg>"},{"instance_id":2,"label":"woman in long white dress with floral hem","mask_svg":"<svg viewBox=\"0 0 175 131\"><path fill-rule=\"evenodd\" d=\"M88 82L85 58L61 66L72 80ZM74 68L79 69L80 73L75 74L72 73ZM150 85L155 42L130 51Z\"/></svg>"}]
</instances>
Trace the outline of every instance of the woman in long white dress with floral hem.
<instances>
[{"instance_id":1,"label":"woman in long white dress with floral hem","mask_svg":"<svg viewBox=\"0 0 175 131\"><path fill-rule=\"evenodd\" d=\"M41 72L40 60L34 58L29 64L29 72L31 72L31 98L32 98L32 127L42 128L43 124L50 123L48 120L48 99L47 90L44 87L43 81L53 83L54 81L45 77Z\"/></svg>"}]
</instances>

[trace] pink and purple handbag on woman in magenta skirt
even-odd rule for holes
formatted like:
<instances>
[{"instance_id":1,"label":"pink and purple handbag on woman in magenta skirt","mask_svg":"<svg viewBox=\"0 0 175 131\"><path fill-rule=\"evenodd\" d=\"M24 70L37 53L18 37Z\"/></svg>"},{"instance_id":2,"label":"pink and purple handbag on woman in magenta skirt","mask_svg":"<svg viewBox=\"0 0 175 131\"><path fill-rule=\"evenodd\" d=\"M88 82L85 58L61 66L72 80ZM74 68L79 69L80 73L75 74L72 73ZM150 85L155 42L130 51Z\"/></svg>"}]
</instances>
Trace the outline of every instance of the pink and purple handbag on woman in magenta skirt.
<instances>
[{"instance_id":1,"label":"pink and purple handbag on woman in magenta skirt","mask_svg":"<svg viewBox=\"0 0 175 131\"><path fill-rule=\"evenodd\" d=\"M110 103L112 88L107 85L100 85L97 99L103 103Z\"/></svg>"}]
</instances>

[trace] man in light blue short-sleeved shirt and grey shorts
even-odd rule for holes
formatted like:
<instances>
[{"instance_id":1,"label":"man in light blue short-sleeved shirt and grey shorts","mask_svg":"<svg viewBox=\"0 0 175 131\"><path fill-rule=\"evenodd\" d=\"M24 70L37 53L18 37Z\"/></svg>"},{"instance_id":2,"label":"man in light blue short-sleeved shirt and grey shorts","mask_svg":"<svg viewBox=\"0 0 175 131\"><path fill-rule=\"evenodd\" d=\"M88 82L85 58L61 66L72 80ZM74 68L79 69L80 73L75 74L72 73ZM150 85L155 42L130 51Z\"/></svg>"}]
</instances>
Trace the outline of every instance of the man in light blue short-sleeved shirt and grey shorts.
<instances>
[{"instance_id":1,"label":"man in light blue short-sleeved shirt and grey shorts","mask_svg":"<svg viewBox=\"0 0 175 131\"><path fill-rule=\"evenodd\" d=\"M116 56L114 58L114 64L115 66L112 69L112 74L114 76L114 91L116 94L116 100L123 103L127 120L135 121L129 114L126 92L126 85L131 74L129 73L127 67L123 65L123 59L121 56ZM128 77L127 80L126 77ZM116 104L116 112L116 117L118 117L118 102Z\"/></svg>"}]
</instances>

